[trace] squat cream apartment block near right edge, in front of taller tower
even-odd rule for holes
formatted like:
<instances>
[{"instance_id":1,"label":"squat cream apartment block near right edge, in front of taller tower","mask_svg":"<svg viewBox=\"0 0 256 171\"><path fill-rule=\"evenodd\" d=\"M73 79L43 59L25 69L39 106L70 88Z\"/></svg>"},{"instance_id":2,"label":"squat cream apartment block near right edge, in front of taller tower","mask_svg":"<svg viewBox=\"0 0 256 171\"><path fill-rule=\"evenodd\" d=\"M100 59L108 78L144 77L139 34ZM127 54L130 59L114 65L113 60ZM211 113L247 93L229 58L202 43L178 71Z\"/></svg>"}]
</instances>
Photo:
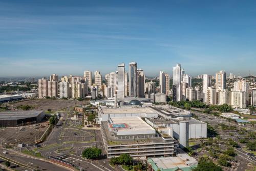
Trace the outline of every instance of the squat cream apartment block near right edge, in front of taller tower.
<instances>
[{"instance_id":1,"label":"squat cream apartment block near right edge, in front of taller tower","mask_svg":"<svg viewBox=\"0 0 256 171\"><path fill-rule=\"evenodd\" d=\"M231 106L233 108L246 108L247 94L244 91L231 91Z\"/></svg>"}]
</instances>

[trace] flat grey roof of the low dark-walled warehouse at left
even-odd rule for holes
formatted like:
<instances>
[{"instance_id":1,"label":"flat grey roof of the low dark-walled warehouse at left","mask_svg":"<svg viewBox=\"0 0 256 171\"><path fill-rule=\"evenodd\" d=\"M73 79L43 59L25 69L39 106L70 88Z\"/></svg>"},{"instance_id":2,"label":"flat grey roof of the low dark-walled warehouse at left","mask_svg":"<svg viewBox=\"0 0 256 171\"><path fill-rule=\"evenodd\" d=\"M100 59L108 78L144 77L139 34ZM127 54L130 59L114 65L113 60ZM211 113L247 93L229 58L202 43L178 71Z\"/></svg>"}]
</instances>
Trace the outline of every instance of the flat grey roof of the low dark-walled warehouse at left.
<instances>
[{"instance_id":1,"label":"flat grey roof of the low dark-walled warehouse at left","mask_svg":"<svg viewBox=\"0 0 256 171\"><path fill-rule=\"evenodd\" d=\"M41 111L2 111L0 112L0 120L18 120L25 118L37 117Z\"/></svg>"}]
</instances>

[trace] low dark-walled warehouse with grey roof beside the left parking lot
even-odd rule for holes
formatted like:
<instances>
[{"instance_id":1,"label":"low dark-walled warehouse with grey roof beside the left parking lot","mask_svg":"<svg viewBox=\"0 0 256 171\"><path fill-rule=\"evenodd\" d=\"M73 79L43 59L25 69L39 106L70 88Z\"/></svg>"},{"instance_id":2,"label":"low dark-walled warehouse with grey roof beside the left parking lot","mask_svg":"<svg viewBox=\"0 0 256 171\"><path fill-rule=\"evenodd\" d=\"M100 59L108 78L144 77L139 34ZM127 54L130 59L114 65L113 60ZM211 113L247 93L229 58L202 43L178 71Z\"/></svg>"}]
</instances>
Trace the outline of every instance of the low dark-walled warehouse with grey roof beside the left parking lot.
<instances>
[{"instance_id":1,"label":"low dark-walled warehouse with grey roof beside the left parking lot","mask_svg":"<svg viewBox=\"0 0 256 171\"><path fill-rule=\"evenodd\" d=\"M44 111L4 111L0 112L0 126L12 127L26 123L38 123L45 117Z\"/></svg>"}]
</instances>

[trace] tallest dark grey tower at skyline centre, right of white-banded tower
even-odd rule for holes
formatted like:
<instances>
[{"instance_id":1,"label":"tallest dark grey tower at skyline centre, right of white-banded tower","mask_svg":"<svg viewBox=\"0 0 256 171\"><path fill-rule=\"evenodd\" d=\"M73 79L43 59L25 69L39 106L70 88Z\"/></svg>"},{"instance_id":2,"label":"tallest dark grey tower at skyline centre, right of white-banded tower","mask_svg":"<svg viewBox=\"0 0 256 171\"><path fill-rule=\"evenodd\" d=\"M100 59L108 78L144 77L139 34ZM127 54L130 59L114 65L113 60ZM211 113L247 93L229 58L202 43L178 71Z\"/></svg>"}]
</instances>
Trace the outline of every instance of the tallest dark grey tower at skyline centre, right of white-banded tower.
<instances>
[{"instance_id":1,"label":"tallest dark grey tower at skyline centre, right of white-banded tower","mask_svg":"<svg viewBox=\"0 0 256 171\"><path fill-rule=\"evenodd\" d=\"M119 77L119 75L118 75L118 77ZM130 97L138 96L137 62L129 63L129 96Z\"/></svg>"}]
</instances>

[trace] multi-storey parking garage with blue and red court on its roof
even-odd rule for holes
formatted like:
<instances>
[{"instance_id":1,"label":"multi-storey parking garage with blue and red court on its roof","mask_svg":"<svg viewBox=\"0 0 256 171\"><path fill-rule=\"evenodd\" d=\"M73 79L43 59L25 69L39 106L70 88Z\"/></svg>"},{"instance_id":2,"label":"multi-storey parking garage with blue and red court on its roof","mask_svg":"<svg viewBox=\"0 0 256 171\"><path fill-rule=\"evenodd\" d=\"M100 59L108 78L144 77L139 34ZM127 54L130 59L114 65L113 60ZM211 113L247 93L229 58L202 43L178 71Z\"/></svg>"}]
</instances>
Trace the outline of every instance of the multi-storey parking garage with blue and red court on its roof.
<instances>
[{"instance_id":1,"label":"multi-storey parking garage with blue and red court on its roof","mask_svg":"<svg viewBox=\"0 0 256 171\"><path fill-rule=\"evenodd\" d=\"M176 142L162 136L140 117L114 117L101 122L101 134L108 158L130 154L136 159L173 156Z\"/></svg>"}]
</instances>

